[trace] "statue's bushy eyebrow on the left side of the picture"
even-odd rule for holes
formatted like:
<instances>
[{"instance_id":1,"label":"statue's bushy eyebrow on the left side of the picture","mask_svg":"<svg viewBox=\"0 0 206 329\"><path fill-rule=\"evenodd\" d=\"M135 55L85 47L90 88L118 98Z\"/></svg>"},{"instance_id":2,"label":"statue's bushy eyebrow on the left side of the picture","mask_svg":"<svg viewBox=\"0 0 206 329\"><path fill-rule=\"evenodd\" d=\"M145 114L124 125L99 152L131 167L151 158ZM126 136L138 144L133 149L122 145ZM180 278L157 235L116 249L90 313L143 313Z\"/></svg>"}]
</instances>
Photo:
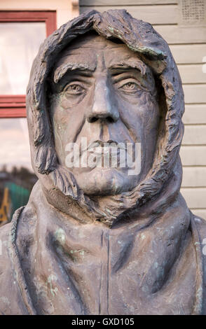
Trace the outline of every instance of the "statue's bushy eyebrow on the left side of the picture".
<instances>
[{"instance_id":1,"label":"statue's bushy eyebrow on the left side of the picture","mask_svg":"<svg viewBox=\"0 0 206 329\"><path fill-rule=\"evenodd\" d=\"M61 78L67 73L67 71L95 71L95 65L83 64L83 63L67 63L62 64L57 69L55 69L54 73L54 82L58 83Z\"/></svg>"}]
</instances>

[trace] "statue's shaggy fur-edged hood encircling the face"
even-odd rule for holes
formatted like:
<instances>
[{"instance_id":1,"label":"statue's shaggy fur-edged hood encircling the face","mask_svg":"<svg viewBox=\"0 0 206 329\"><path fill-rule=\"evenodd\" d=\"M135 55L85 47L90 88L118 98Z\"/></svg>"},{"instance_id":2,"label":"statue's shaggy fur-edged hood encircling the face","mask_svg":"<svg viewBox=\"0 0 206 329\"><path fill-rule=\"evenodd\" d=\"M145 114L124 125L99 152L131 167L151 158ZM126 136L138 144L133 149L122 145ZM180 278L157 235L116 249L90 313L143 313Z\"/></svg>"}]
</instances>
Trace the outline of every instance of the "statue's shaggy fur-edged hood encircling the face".
<instances>
[{"instance_id":1,"label":"statue's shaggy fur-edged hood encircling the face","mask_svg":"<svg viewBox=\"0 0 206 329\"><path fill-rule=\"evenodd\" d=\"M58 164L46 97L48 76L57 55L74 38L91 30L111 40L121 39L151 67L159 83L160 106L164 113L153 166L144 181L128 193L96 198L84 195L71 172ZM129 214L156 198L172 176L179 182L173 195L175 197L181 185L179 148L184 133L181 122L183 113L184 93L177 65L167 42L149 23L132 18L126 10L108 10L104 13L90 10L62 25L42 43L27 87L32 166L48 201L65 213L75 206L77 213L80 211L83 214L82 217L112 225L123 214Z\"/></svg>"}]
</instances>

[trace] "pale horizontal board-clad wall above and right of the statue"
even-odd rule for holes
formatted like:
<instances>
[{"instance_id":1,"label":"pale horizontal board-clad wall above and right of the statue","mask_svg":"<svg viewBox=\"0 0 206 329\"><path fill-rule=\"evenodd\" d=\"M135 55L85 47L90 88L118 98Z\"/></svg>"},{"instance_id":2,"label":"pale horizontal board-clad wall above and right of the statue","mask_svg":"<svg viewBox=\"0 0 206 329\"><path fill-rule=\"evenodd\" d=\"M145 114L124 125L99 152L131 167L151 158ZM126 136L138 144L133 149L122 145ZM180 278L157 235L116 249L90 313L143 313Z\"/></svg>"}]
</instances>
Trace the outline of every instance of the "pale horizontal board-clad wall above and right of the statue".
<instances>
[{"instance_id":1,"label":"pale horizontal board-clad wall above and right of the statue","mask_svg":"<svg viewBox=\"0 0 206 329\"><path fill-rule=\"evenodd\" d=\"M206 0L80 0L79 3L80 13L88 9L125 8L135 18L150 22L169 43L183 82L186 104L180 151L181 193L193 213L206 219ZM186 8L182 4L190 6L193 16L197 14L198 3L202 4L198 13L201 21L185 18Z\"/></svg>"}]
</instances>

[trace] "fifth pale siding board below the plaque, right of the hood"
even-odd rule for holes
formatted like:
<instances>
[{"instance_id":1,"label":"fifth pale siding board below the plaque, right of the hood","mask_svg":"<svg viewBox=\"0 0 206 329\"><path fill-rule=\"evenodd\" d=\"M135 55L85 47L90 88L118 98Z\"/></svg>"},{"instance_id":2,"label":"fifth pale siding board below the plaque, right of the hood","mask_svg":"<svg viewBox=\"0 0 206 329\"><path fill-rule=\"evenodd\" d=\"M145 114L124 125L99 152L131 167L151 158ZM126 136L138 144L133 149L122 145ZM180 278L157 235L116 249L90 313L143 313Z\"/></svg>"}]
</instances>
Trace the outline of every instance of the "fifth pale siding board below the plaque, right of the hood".
<instances>
[{"instance_id":1,"label":"fifth pale siding board below the plaque, right of the hood","mask_svg":"<svg viewBox=\"0 0 206 329\"><path fill-rule=\"evenodd\" d=\"M206 124L206 104L186 104L183 122L184 124Z\"/></svg>"}]
</instances>

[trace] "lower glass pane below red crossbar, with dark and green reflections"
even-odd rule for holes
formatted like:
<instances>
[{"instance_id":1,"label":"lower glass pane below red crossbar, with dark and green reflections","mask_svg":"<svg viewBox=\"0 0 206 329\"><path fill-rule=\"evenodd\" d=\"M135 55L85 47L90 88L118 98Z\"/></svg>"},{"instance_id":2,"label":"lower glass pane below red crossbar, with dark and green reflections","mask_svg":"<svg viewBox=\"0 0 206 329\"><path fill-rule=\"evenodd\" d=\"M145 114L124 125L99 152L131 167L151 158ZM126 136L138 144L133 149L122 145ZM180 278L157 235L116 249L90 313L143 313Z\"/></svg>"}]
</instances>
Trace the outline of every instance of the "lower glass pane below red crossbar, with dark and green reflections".
<instances>
[{"instance_id":1,"label":"lower glass pane below red crossbar, with dark and green reflections","mask_svg":"<svg viewBox=\"0 0 206 329\"><path fill-rule=\"evenodd\" d=\"M36 182L32 170L26 118L0 120L0 225L27 204Z\"/></svg>"}]
</instances>

